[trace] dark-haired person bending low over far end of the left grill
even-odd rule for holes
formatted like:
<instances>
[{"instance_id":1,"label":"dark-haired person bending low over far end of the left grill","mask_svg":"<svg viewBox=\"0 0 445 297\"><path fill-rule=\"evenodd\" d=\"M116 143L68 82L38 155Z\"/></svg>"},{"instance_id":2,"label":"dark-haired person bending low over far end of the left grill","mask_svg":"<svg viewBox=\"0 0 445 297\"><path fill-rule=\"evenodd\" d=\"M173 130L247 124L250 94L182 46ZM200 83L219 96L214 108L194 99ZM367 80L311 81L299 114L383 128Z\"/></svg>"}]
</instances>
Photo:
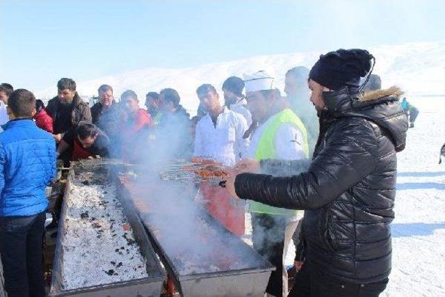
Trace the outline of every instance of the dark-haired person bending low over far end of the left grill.
<instances>
[{"instance_id":1,"label":"dark-haired person bending low over far end of the left grill","mask_svg":"<svg viewBox=\"0 0 445 297\"><path fill-rule=\"evenodd\" d=\"M81 122L74 133L74 137L63 138L57 148L58 154L71 150L71 161L95 156L108 156L110 145L108 136L94 124Z\"/></svg>"}]
</instances>

